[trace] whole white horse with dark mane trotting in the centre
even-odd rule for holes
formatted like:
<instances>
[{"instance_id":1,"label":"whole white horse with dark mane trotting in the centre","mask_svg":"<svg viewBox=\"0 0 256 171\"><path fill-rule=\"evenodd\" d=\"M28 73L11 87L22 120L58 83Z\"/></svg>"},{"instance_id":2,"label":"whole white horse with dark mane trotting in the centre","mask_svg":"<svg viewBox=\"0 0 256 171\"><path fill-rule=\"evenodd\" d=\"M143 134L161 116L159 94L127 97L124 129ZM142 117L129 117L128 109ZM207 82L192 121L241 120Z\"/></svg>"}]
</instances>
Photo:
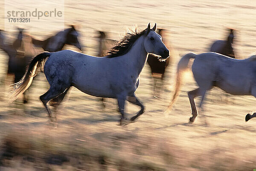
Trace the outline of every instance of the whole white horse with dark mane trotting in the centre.
<instances>
[{"instance_id":1,"label":"whole white horse with dark mane trotting in the centre","mask_svg":"<svg viewBox=\"0 0 256 171\"><path fill-rule=\"evenodd\" d=\"M155 32L156 29L156 24L152 29L148 24L147 29L141 32L127 33L109 52L110 55L105 57L94 57L70 50L41 53L32 60L23 79L13 85L11 99L14 100L23 93L44 66L50 88L40 99L51 121L49 101L58 106L71 86L92 96L117 99L119 112L122 114L120 124L125 118L125 100L139 105L141 110L131 118L133 121L144 112L144 106L134 92L139 86L140 73L148 53L154 53L163 59L169 57L169 50L161 36Z\"/></svg>"}]
</instances>

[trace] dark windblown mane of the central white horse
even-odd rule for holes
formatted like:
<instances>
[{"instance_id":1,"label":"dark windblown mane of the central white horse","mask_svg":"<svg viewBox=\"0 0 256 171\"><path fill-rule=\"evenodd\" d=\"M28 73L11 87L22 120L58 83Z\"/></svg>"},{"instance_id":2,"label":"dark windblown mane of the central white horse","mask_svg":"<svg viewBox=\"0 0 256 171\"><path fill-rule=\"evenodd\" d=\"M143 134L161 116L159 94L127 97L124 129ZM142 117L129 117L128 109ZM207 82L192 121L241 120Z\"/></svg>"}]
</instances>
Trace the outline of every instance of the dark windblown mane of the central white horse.
<instances>
[{"instance_id":1,"label":"dark windblown mane of the central white horse","mask_svg":"<svg viewBox=\"0 0 256 171\"><path fill-rule=\"evenodd\" d=\"M114 58L117 56L125 55L132 47L135 41L137 41L140 36L146 33L146 30L142 30L137 32L137 29L134 31L131 30L130 33L126 33L125 36L114 46L112 49L108 51L108 54L106 57L108 58Z\"/></svg>"}]
</instances>

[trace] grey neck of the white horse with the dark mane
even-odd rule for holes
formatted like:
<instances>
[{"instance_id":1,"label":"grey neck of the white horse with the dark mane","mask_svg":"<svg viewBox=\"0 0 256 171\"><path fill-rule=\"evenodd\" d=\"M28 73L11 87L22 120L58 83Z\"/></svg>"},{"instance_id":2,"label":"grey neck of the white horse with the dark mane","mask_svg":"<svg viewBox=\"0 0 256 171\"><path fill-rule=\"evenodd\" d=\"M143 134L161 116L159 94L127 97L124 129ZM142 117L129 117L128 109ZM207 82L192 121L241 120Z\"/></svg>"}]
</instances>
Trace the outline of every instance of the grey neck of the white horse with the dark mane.
<instances>
[{"instance_id":1,"label":"grey neck of the white horse with the dark mane","mask_svg":"<svg viewBox=\"0 0 256 171\"><path fill-rule=\"evenodd\" d=\"M127 59L129 64L131 64L131 67L134 67L135 70L137 70L138 75L140 75L140 72L145 66L148 58L148 53L146 52L144 46L144 36L141 36L137 41L135 41L126 55L128 56Z\"/></svg>"}]
</instances>

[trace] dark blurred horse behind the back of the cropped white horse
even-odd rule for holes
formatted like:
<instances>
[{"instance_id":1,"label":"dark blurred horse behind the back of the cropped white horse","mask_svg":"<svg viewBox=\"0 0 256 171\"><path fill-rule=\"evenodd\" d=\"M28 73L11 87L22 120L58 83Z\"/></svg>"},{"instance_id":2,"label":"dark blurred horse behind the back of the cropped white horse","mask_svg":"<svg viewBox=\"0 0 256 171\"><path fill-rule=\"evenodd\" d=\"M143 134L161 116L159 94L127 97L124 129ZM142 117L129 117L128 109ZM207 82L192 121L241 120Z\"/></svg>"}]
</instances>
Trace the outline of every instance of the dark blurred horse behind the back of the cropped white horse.
<instances>
[{"instance_id":1,"label":"dark blurred horse behind the back of the cropped white horse","mask_svg":"<svg viewBox=\"0 0 256 171\"><path fill-rule=\"evenodd\" d=\"M222 55L229 56L230 58L236 58L235 53L232 47L234 36L234 29L230 29L230 34L227 37L227 40L225 41L215 41L212 43L212 46L210 48L210 52L217 52Z\"/></svg>"}]
</instances>

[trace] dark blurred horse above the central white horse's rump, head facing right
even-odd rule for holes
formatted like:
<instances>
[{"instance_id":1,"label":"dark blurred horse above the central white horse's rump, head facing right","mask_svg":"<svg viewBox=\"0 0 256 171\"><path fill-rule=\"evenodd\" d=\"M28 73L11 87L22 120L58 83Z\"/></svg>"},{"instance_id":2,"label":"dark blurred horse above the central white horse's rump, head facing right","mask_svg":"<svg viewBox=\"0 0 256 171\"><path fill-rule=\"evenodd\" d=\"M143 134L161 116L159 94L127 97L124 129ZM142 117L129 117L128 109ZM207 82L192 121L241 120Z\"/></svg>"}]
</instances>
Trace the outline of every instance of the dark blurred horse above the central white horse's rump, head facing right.
<instances>
[{"instance_id":1,"label":"dark blurred horse above the central white horse's rump, head facing right","mask_svg":"<svg viewBox=\"0 0 256 171\"><path fill-rule=\"evenodd\" d=\"M76 46L78 49L82 49L78 41L78 32L75 26L71 25L71 28L58 32L56 35L47 38L44 41L32 38L32 43L36 47L41 47L48 52L56 52L63 49L65 44Z\"/></svg>"}]
</instances>

